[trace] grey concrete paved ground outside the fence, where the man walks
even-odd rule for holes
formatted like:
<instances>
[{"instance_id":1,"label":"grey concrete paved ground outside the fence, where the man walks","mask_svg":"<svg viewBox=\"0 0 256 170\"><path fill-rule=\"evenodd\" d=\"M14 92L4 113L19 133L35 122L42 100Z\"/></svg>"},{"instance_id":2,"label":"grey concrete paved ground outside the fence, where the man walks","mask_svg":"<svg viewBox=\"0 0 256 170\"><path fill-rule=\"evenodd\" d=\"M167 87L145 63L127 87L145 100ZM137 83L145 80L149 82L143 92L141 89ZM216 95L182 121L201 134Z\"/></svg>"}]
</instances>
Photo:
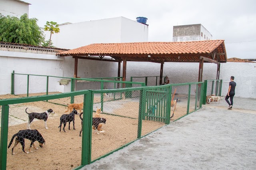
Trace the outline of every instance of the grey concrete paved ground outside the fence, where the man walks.
<instances>
[{"instance_id":1,"label":"grey concrete paved ground outside the fence, where the man walks","mask_svg":"<svg viewBox=\"0 0 256 170\"><path fill-rule=\"evenodd\" d=\"M224 99L137 140L83 170L256 169L256 99Z\"/></svg>"}]
</instances>

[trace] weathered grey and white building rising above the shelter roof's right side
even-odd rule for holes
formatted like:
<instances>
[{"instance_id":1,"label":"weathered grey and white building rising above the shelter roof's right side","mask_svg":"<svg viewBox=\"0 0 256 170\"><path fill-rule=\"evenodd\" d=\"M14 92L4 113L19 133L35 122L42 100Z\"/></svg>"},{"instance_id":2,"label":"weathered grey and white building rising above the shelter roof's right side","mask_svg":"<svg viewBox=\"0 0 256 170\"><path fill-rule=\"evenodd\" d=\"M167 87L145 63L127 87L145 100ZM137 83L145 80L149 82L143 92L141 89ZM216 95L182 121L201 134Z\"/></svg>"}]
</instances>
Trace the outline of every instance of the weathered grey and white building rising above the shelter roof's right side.
<instances>
[{"instance_id":1,"label":"weathered grey and white building rising above the shelter roof's right side","mask_svg":"<svg viewBox=\"0 0 256 170\"><path fill-rule=\"evenodd\" d=\"M212 40L212 34L202 24L173 26L173 42Z\"/></svg>"}]
</instances>

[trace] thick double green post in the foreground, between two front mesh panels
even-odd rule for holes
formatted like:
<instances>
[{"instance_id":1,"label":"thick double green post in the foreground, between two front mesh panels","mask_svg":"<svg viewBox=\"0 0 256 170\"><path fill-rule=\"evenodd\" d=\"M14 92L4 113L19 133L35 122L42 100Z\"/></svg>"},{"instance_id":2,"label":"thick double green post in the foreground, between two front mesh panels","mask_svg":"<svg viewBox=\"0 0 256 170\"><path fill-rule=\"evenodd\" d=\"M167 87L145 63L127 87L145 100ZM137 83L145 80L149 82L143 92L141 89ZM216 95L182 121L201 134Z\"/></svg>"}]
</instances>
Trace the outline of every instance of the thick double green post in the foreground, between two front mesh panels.
<instances>
[{"instance_id":1,"label":"thick double green post in the foreground, between two front mesh panels","mask_svg":"<svg viewBox=\"0 0 256 170\"><path fill-rule=\"evenodd\" d=\"M84 95L84 112L83 112L83 132L82 132L82 160L81 165L90 164L92 154L92 105L93 94Z\"/></svg>"}]
</instances>

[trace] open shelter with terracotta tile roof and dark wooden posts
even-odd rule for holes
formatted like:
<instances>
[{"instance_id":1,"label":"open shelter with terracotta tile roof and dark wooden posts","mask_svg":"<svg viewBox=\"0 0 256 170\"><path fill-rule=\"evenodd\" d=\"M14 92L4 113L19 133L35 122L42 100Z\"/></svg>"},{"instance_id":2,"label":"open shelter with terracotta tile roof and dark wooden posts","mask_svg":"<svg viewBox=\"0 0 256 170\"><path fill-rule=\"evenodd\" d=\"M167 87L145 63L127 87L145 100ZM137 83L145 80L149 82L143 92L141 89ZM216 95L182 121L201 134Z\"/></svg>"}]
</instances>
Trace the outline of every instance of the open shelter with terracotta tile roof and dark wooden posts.
<instances>
[{"instance_id":1,"label":"open shelter with terracotta tile roof and dark wooden posts","mask_svg":"<svg viewBox=\"0 0 256 170\"><path fill-rule=\"evenodd\" d=\"M95 43L57 53L58 57L75 59L74 77L77 77L78 59L118 62L118 77L123 62L122 80L126 81L127 61L161 63L160 84L162 83L164 62L199 63L198 81L202 81L204 62L216 63L220 77L220 63L226 63L227 54L224 40L192 42L134 42L134 43Z\"/></svg>"}]
</instances>

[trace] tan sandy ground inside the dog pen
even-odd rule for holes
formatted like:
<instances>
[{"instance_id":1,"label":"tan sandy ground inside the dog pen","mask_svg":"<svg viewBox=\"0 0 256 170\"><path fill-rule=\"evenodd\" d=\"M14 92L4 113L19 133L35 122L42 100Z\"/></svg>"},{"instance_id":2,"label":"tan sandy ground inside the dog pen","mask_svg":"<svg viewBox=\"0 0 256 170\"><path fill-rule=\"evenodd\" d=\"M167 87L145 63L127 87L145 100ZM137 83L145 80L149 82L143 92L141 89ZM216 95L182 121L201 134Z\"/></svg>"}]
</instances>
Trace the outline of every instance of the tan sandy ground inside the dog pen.
<instances>
[{"instance_id":1,"label":"tan sandy ground inside the dog pen","mask_svg":"<svg viewBox=\"0 0 256 170\"><path fill-rule=\"evenodd\" d=\"M16 98L14 95L1 95L0 98ZM75 97L76 99L76 97ZM70 98L51 100L53 103L60 103L63 105L69 104ZM45 101L31 102L10 105L10 117L8 128L8 144L13 134L19 130L26 129L28 122L28 115L25 109L28 107L28 112L44 112L47 109L53 109L55 114L51 114L47 121L48 129L45 129L43 121L33 121L30 127L37 129L44 139L46 144L43 148L35 150L32 148L31 153L26 154L22 152L22 146L18 144L15 148L15 154L12 155L11 148L7 150L7 169L8 170L27 170L33 167L37 170L63 170L72 169L79 166L81 163L82 140L79 136L81 129L81 120L79 115L75 116L75 128L73 124L70 125L71 130L68 130L66 125L66 132L59 132L60 116L67 110L67 107L56 105ZM80 103L80 101L78 101ZM127 108L134 103L124 104L122 107L113 108L113 113L125 112ZM134 109L129 110L129 116L138 118L138 111ZM94 113L95 114L95 113ZM92 160L128 143L137 138L138 119L130 119L126 117L118 117L113 115L102 114L106 118L106 125L103 125L104 133L92 133ZM142 135L148 134L157 128L164 126L164 123L154 121L142 121ZM62 125L63 127L63 125ZM35 142L38 147L38 142ZM25 150L28 151L30 140L25 140ZM46 167L47 165L47 167Z\"/></svg>"}]
</instances>

